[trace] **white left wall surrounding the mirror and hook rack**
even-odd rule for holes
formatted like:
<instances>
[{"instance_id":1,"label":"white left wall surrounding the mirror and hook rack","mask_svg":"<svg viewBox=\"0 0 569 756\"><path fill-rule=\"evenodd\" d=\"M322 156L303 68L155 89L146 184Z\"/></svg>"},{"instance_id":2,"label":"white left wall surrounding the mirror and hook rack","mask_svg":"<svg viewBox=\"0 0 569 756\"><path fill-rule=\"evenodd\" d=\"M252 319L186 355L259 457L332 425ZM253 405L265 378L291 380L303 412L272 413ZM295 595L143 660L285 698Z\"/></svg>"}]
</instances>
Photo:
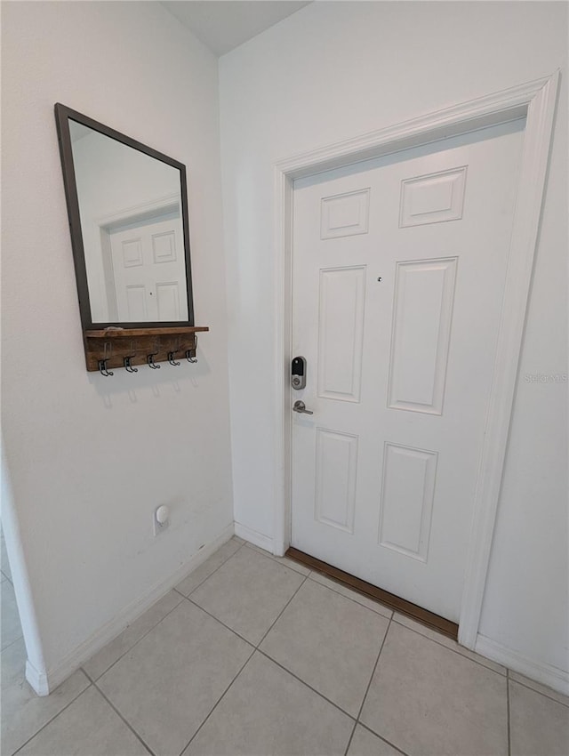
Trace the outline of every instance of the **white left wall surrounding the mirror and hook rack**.
<instances>
[{"instance_id":1,"label":"white left wall surrounding the mirror and hook rack","mask_svg":"<svg viewBox=\"0 0 569 756\"><path fill-rule=\"evenodd\" d=\"M232 527L218 66L160 4L3 3L2 26L3 430L53 671ZM86 373L57 101L187 165L196 366Z\"/></svg>"}]
</instances>

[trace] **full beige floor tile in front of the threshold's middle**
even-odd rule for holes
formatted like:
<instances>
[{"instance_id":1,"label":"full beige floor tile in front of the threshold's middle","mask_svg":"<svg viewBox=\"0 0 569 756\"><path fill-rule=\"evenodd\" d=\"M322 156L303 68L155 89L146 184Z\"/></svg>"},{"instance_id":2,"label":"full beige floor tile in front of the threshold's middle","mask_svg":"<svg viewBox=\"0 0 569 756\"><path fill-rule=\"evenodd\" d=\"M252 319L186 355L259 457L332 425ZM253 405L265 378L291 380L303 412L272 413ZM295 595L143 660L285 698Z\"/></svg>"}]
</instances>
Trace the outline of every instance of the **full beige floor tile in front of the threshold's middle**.
<instances>
[{"instance_id":1,"label":"full beige floor tile in front of the threshold's middle","mask_svg":"<svg viewBox=\"0 0 569 756\"><path fill-rule=\"evenodd\" d=\"M260 649L357 717L389 620L307 580Z\"/></svg>"}]
</instances>

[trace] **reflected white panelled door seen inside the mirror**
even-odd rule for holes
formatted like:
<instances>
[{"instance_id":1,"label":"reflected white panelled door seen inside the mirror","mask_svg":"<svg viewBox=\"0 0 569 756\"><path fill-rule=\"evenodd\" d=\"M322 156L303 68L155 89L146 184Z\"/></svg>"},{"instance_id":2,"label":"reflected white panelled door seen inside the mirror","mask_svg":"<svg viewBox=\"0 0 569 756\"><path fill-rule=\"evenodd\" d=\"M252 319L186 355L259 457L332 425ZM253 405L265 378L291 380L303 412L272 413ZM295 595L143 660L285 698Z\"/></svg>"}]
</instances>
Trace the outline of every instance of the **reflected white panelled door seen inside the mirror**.
<instances>
[{"instance_id":1,"label":"reflected white panelled door seen inside the mirror","mask_svg":"<svg viewBox=\"0 0 569 756\"><path fill-rule=\"evenodd\" d=\"M110 320L188 319L179 207L101 229L101 247Z\"/></svg>"}]
</instances>

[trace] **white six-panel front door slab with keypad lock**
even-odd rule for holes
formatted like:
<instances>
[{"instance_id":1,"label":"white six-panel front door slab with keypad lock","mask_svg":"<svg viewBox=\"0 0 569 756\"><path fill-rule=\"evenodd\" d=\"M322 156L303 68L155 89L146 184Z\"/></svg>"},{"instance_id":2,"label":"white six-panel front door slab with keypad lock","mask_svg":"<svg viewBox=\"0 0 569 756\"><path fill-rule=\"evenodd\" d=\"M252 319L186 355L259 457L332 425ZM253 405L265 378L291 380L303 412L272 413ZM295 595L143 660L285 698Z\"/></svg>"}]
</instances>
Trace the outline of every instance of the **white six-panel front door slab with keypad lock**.
<instances>
[{"instance_id":1,"label":"white six-panel front door slab with keypad lock","mask_svg":"<svg viewBox=\"0 0 569 756\"><path fill-rule=\"evenodd\" d=\"M523 127L294 182L292 545L453 622Z\"/></svg>"}]
</instances>

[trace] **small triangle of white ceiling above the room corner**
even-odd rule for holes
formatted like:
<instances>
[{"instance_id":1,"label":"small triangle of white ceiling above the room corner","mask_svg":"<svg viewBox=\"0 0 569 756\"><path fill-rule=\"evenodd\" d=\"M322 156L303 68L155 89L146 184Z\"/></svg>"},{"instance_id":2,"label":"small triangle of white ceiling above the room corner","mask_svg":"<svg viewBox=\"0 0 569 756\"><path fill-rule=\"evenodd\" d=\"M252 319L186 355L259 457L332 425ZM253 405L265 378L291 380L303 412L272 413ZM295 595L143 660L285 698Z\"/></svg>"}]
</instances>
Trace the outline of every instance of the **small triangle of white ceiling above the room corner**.
<instances>
[{"instance_id":1,"label":"small triangle of white ceiling above the room corner","mask_svg":"<svg viewBox=\"0 0 569 756\"><path fill-rule=\"evenodd\" d=\"M216 55L223 55L309 3L294 0L164 0Z\"/></svg>"}]
</instances>

